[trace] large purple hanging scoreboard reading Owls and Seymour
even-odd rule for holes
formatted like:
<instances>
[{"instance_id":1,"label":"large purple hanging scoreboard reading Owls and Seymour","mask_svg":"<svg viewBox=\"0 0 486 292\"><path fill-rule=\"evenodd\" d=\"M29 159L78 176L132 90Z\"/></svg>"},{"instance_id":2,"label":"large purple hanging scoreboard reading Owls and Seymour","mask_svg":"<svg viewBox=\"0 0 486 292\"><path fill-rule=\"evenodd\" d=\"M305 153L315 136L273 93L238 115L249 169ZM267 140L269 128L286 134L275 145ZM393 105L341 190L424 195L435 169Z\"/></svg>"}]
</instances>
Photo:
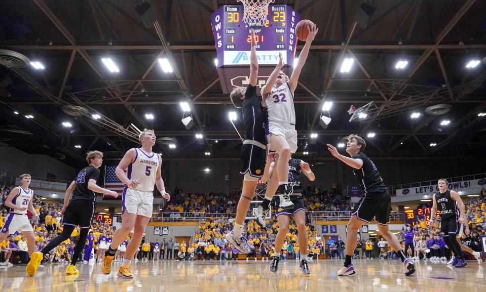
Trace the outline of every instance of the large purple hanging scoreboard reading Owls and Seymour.
<instances>
[{"instance_id":1,"label":"large purple hanging scoreboard reading Owls and Seymour","mask_svg":"<svg viewBox=\"0 0 486 292\"><path fill-rule=\"evenodd\" d=\"M287 5L270 5L267 22L261 27L248 27L243 21L243 5L225 5L211 14L211 28L216 47L216 67L223 93L236 86L248 86L250 73L251 29L255 30L258 59L258 86L263 87L282 54L290 74L295 58L297 36L295 25L300 14Z\"/></svg>"}]
</instances>

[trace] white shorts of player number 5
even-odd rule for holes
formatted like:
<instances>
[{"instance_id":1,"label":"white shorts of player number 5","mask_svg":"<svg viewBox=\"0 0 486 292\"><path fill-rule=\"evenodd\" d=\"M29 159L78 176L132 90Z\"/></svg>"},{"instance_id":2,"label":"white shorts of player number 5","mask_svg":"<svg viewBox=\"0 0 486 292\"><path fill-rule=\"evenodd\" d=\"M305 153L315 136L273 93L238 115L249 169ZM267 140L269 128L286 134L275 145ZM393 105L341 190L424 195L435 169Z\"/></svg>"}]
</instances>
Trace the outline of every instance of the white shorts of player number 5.
<instances>
[{"instance_id":1,"label":"white shorts of player number 5","mask_svg":"<svg viewBox=\"0 0 486 292\"><path fill-rule=\"evenodd\" d=\"M122 197L122 214L126 211L131 214L152 217L154 193L125 188Z\"/></svg>"}]
</instances>

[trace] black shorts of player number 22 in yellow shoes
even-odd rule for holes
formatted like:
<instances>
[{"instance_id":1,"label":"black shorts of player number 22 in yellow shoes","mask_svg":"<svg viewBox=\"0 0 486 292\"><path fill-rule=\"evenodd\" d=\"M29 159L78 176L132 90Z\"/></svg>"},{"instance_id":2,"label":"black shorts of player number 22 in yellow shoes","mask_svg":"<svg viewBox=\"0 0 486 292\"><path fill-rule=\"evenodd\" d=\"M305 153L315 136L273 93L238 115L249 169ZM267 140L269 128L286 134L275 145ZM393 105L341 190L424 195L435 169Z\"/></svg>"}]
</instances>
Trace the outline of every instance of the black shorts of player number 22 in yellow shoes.
<instances>
[{"instance_id":1,"label":"black shorts of player number 22 in yellow shoes","mask_svg":"<svg viewBox=\"0 0 486 292\"><path fill-rule=\"evenodd\" d=\"M62 225L79 226L80 228L90 228L94 214L94 201L74 200L70 201L64 212Z\"/></svg>"}]
</instances>

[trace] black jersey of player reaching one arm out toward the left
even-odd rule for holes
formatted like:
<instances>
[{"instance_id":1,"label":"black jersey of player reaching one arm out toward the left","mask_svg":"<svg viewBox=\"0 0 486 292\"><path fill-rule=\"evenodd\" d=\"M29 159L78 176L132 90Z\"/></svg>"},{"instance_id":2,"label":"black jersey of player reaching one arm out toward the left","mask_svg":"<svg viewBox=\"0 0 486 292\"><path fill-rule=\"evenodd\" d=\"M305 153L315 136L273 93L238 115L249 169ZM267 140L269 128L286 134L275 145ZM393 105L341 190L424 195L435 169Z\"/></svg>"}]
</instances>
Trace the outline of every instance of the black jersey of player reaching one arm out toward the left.
<instances>
[{"instance_id":1,"label":"black jersey of player reaching one arm out toward the left","mask_svg":"<svg viewBox=\"0 0 486 292\"><path fill-rule=\"evenodd\" d=\"M364 195L385 192L387 187L383 183L375 163L362 152L354 154L353 158L363 160L361 169L353 169L353 173Z\"/></svg>"}]
</instances>

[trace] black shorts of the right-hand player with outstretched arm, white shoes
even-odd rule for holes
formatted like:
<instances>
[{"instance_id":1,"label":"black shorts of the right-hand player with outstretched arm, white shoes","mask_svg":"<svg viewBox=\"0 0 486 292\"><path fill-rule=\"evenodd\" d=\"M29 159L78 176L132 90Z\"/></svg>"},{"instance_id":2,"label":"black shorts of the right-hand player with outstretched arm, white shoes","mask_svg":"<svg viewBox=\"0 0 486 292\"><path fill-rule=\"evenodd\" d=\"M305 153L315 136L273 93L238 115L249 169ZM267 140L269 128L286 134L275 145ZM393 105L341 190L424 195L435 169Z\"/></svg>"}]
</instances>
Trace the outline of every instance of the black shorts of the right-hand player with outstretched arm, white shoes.
<instances>
[{"instance_id":1,"label":"black shorts of the right-hand player with outstretched arm, white shoes","mask_svg":"<svg viewBox=\"0 0 486 292\"><path fill-rule=\"evenodd\" d=\"M358 202L358 207L353 215L366 223L370 223L375 217L378 224L387 225L390 223L391 203L388 190L382 193L367 193Z\"/></svg>"}]
</instances>

